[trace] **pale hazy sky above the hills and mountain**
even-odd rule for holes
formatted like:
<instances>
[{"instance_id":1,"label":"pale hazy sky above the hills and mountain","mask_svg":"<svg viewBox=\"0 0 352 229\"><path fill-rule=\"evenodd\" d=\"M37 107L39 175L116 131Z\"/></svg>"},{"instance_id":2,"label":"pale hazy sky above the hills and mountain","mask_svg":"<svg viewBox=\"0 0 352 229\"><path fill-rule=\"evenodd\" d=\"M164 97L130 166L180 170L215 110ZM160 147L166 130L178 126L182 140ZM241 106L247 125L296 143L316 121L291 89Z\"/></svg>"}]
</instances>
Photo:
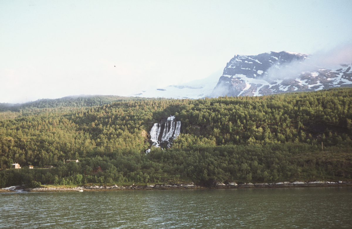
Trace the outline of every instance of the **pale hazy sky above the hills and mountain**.
<instances>
[{"instance_id":1,"label":"pale hazy sky above the hills and mountain","mask_svg":"<svg viewBox=\"0 0 352 229\"><path fill-rule=\"evenodd\" d=\"M236 54L329 52L352 44L351 8L350 0L0 0L0 103L129 96L206 78Z\"/></svg>"}]
</instances>

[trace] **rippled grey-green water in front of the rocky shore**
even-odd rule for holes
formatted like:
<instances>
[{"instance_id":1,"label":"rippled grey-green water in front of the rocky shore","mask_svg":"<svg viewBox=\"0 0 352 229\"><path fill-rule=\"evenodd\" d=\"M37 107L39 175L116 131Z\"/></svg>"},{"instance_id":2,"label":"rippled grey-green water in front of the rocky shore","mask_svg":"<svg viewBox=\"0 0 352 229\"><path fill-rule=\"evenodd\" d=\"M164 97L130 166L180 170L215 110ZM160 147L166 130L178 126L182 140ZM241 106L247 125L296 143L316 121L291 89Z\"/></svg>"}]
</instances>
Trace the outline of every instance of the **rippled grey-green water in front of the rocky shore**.
<instances>
[{"instance_id":1,"label":"rippled grey-green water in front of the rocky shore","mask_svg":"<svg viewBox=\"0 0 352 229\"><path fill-rule=\"evenodd\" d=\"M352 228L352 188L0 194L0 228Z\"/></svg>"}]
</instances>

